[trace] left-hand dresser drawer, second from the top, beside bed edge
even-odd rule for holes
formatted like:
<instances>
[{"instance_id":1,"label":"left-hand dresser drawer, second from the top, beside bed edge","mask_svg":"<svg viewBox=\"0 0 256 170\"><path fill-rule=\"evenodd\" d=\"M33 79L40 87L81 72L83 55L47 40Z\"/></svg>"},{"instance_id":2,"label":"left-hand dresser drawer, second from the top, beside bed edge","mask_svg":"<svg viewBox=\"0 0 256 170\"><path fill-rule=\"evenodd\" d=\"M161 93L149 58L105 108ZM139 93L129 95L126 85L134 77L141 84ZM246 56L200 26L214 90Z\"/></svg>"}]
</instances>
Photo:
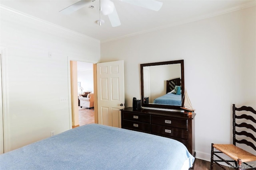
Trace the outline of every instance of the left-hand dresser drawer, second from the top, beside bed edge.
<instances>
[{"instance_id":1,"label":"left-hand dresser drawer, second from the top, beside bed edge","mask_svg":"<svg viewBox=\"0 0 256 170\"><path fill-rule=\"evenodd\" d=\"M125 129L136 129L139 131L146 131L146 132L150 132L150 124L149 123L142 123L142 122L136 122L136 121L128 121L128 120L124 120L123 121L123 125L122 127L124 127Z\"/></svg>"}]
</instances>

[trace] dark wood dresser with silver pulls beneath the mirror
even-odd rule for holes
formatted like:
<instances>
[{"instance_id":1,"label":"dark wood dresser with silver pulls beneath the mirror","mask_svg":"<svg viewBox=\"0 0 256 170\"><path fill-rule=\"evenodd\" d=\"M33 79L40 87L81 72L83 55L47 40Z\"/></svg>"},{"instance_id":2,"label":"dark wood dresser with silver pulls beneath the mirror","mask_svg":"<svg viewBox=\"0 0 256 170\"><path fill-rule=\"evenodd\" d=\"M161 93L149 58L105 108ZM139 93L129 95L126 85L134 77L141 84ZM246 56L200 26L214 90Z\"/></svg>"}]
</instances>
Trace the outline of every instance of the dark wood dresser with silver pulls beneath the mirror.
<instances>
[{"instance_id":1,"label":"dark wood dresser with silver pulls beneath the mirror","mask_svg":"<svg viewBox=\"0 0 256 170\"><path fill-rule=\"evenodd\" d=\"M196 114L186 115L176 111L153 109L121 109L123 129L176 139L183 143L195 156L194 122Z\"/></svg>"}]
</instances>

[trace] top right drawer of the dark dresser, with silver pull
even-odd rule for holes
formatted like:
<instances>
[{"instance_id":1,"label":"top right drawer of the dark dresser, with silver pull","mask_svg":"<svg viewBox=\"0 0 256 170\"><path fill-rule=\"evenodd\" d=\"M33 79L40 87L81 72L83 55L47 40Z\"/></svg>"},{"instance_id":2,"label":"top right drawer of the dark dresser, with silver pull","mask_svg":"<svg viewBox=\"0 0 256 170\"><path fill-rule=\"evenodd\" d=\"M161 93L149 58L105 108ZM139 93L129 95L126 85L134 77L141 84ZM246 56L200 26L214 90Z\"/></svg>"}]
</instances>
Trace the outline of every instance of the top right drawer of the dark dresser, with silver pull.
<instances>
[{"instance_id":1,"label":"top right drawer of the dark dresser, with silver pull","mask_svg":"<svg viewBox=\"0 0 256 170\"><path fill-rule=\"evenodd\" d=\"M160 116L151 116L151 123L157 125L179 127L188 129L187 119L175 119L172 117L160 117Z\"/></svg>"}]
</instances>

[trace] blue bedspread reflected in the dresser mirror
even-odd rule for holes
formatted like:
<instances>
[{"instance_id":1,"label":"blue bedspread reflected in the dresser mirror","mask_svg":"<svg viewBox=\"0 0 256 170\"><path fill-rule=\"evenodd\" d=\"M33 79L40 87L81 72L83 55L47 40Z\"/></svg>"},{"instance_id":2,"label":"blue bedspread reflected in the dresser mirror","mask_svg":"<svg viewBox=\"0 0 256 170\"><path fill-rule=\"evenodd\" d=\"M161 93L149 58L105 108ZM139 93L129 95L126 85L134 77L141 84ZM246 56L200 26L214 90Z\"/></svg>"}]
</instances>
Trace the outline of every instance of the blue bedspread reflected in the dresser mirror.
<instances>
[{"instance_id":1,"label":"blue bedspread reflected in the dresser mirror","mask_svg":"<svg viewBox=\"0 0 256 170\"><path fill-rule=\"evenodd\" d=\"M173 106L181 106L181 95L167 93L164 96L154 99L154 104L168 104Z\"/></svg>"}]
</instances>

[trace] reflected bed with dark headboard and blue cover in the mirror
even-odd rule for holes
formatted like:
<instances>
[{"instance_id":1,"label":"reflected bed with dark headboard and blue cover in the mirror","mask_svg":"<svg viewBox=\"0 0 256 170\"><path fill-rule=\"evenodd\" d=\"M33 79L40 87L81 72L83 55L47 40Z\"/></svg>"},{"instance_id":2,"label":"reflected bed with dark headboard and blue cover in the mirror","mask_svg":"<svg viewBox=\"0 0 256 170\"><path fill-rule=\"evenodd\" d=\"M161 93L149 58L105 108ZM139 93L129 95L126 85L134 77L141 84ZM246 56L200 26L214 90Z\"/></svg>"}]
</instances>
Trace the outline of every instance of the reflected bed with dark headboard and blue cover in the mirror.
<instances>
[{"instance_id":1,"label":"reflected bed with dark headboard and blue cover in the mirror","mask_svg":"<svg viewBox=\"0 0 256 170\"><path fill-rule=\"evenodd\" d=\"M182 104L182 95L173 94L175 86L180 86L181 79L174 78L172 80L166 80L166 94L154 99L154 104L164 104L172 106L181 106Z\"/></svg>"}]
</instances>

